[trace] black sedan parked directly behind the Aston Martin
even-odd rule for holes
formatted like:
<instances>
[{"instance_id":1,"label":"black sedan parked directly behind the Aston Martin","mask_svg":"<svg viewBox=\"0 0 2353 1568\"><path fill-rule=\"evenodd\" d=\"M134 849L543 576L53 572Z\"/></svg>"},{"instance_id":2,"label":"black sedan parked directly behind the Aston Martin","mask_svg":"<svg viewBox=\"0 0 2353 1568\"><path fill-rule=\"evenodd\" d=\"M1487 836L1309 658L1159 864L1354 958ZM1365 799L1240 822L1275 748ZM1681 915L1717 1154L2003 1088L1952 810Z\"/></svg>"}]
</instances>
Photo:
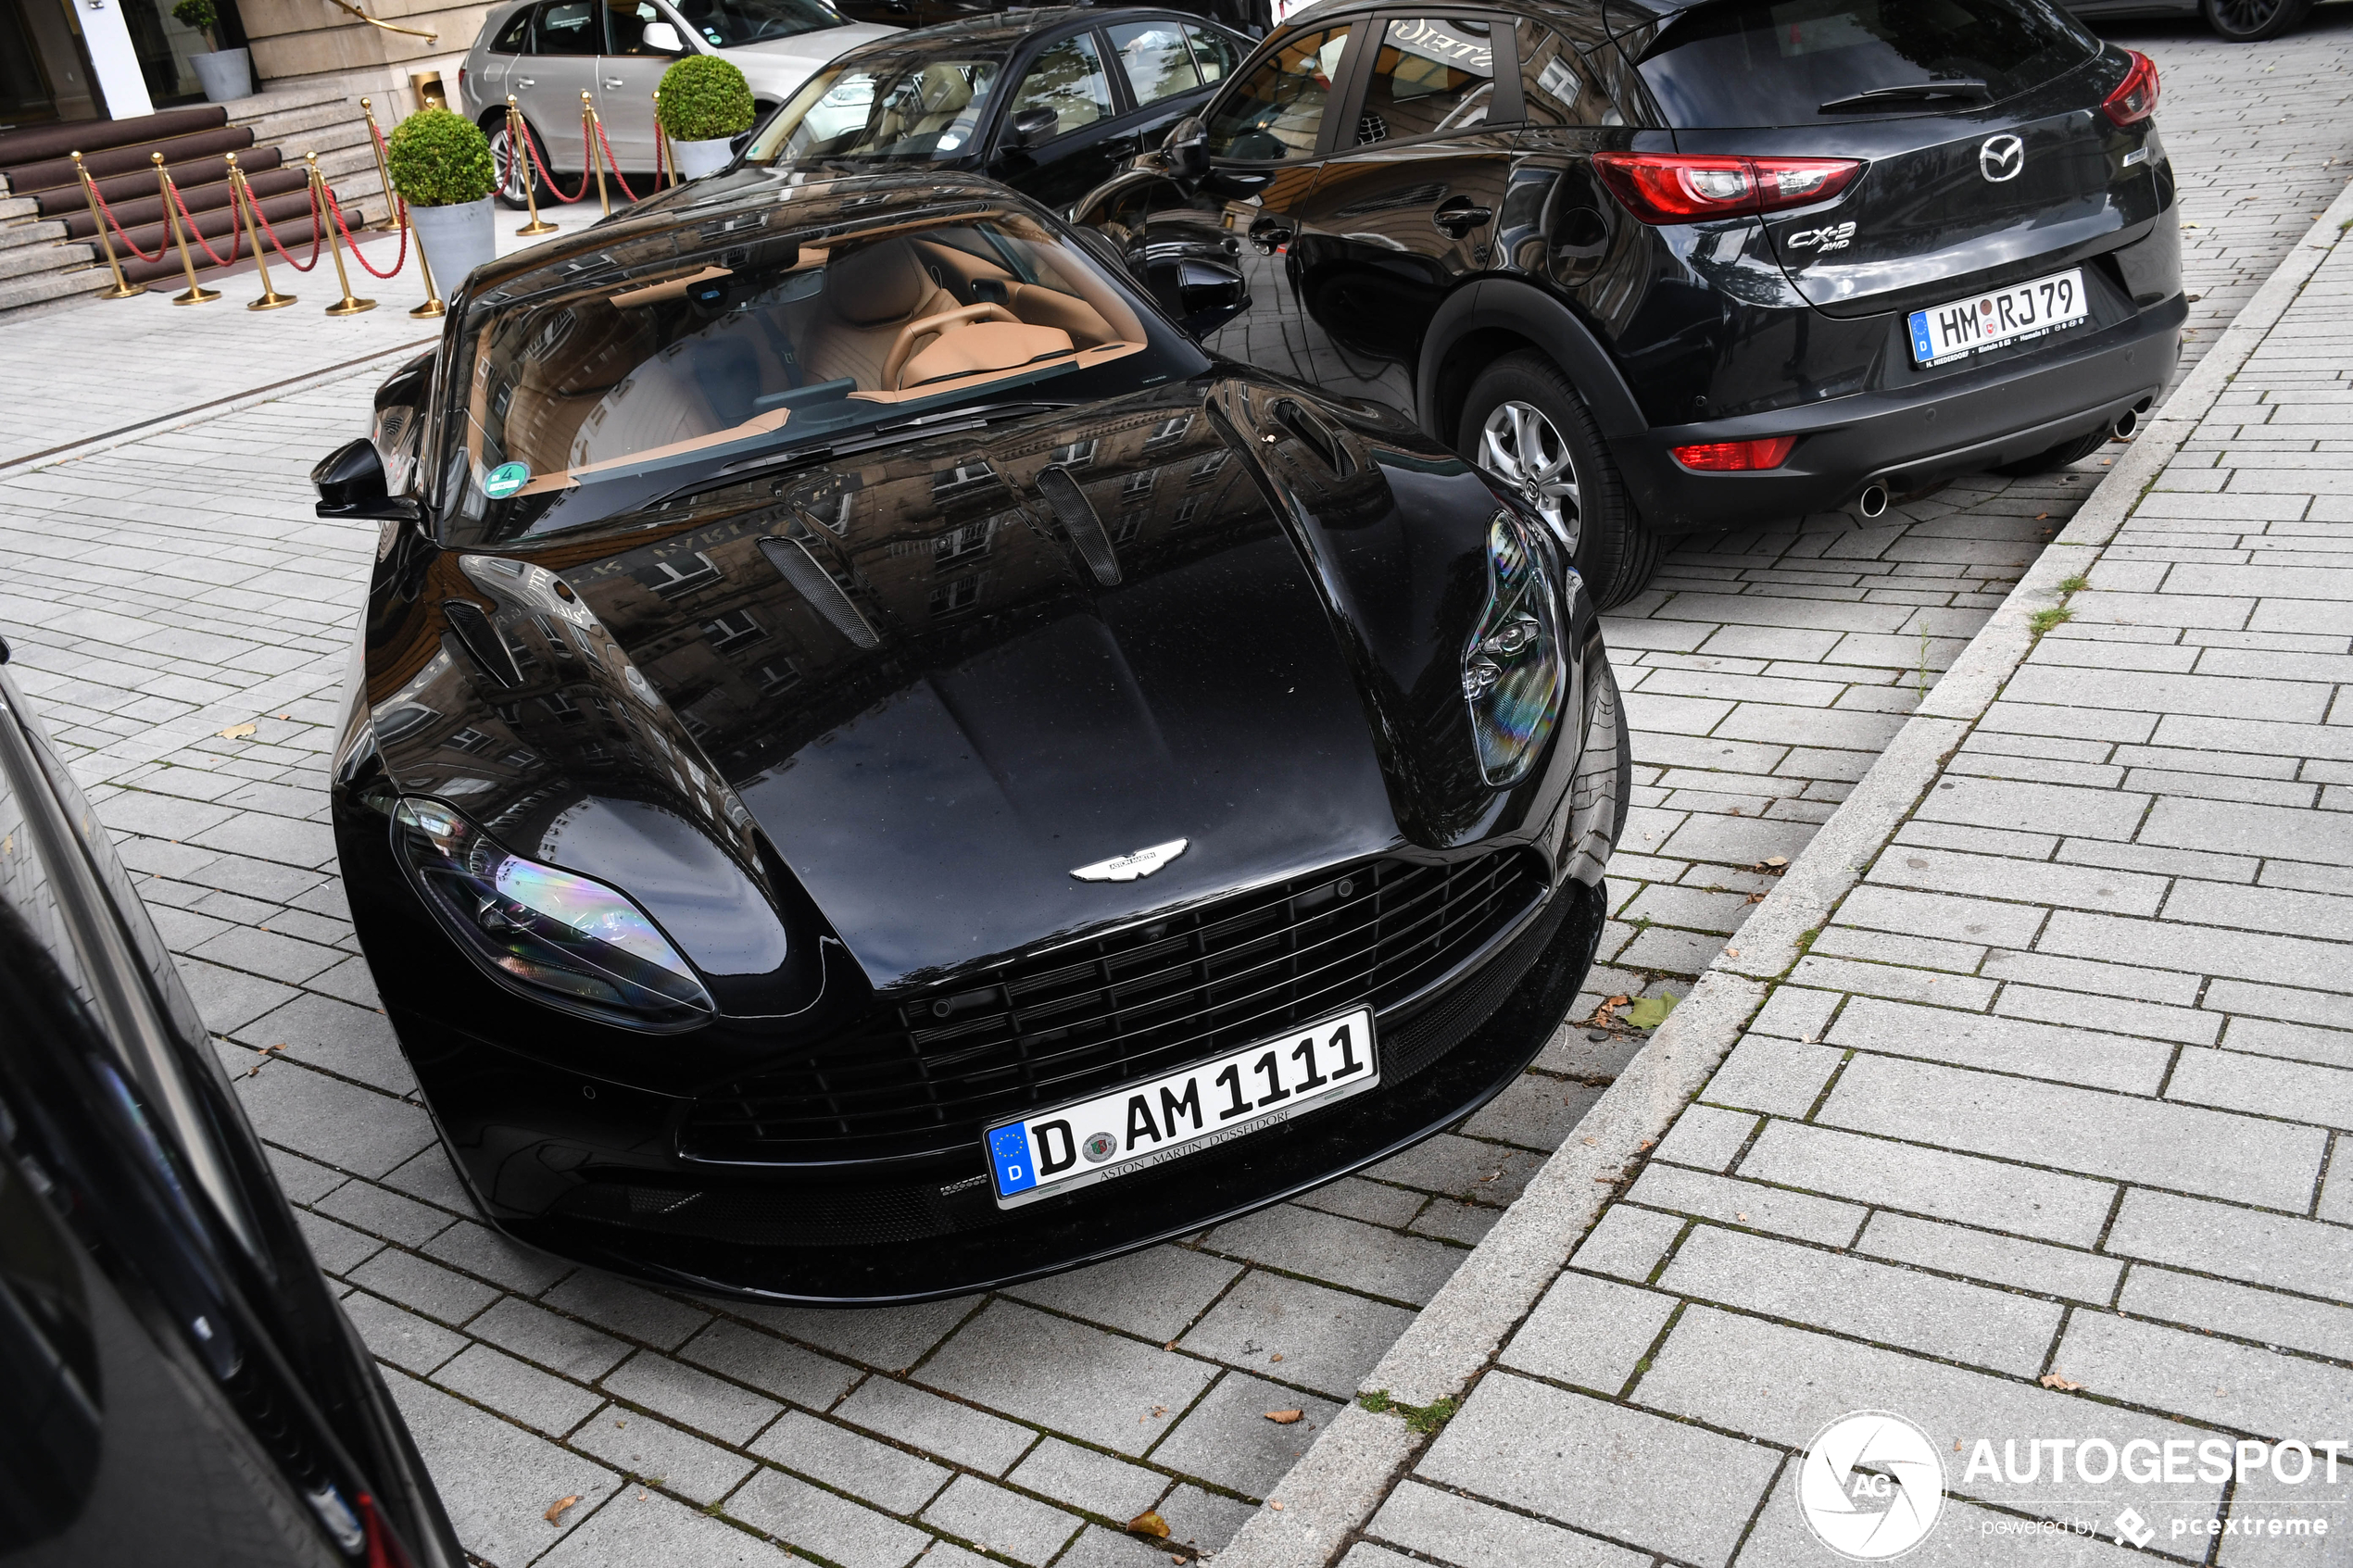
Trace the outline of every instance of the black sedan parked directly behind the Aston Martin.
<instances>
[{"instance_id":1,"label":"black sedan parked directly behind the Aston Martin","mask_svg":"<svg viewBox=\"0 0 2353 1568\"><path fill-rule=\"evenodd\" d=\"M1158 146L1247 52L1238 33L1165 9L951 21L835 59L744 160L828 174L979 172L1059 212Z\"/></svg>"}]
</instances>

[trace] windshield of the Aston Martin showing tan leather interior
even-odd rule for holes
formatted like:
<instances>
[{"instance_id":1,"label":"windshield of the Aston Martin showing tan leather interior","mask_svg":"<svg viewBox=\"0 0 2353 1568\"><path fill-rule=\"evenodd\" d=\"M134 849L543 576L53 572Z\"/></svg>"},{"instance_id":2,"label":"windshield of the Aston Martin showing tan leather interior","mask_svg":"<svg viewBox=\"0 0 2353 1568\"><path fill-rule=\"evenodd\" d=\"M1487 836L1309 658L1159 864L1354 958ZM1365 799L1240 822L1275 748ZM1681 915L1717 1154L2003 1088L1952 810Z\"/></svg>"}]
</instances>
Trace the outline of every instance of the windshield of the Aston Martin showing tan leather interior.
<instances>
[{"instance_id":1,"label":"windshield of the Aston Martin showing tan leather interior","mask_svg":"<svg viewBox=\"0 0 2353 1568\"><path fill-rule=\"evenodd\" d=\"M466 367L442 393L449 545L586 527L718 473L1207 367L1042 219L866 181L508 280L468 308L449 362Z\"/></svg>"}]
</instances>

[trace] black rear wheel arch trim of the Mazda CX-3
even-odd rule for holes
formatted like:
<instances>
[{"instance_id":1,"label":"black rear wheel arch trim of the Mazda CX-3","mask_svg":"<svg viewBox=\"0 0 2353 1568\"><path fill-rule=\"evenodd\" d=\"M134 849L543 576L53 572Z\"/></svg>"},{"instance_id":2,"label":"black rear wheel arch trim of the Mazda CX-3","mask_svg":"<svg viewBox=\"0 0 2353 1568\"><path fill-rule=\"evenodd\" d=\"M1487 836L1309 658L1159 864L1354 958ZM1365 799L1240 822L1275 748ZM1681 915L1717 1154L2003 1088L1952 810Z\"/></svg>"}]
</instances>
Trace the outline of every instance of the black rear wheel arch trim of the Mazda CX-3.
<instances>
[{"instance_id":1,"label":"black rear wheel arch trim of the Mazda CX-3","mask_svg":"<svg viewBox=\"0 0 2353 1568\"><path fill-rule=\"evenodd\" d=\"M1431 320L1414 376L1421 428L1452 447L1478 371L1522 348L1534 348L1560 367L1605 437L1649 428L1600 339L1558 299L1511 277L1485 277L1459 289Z\"/></svg>"}]
</instances>

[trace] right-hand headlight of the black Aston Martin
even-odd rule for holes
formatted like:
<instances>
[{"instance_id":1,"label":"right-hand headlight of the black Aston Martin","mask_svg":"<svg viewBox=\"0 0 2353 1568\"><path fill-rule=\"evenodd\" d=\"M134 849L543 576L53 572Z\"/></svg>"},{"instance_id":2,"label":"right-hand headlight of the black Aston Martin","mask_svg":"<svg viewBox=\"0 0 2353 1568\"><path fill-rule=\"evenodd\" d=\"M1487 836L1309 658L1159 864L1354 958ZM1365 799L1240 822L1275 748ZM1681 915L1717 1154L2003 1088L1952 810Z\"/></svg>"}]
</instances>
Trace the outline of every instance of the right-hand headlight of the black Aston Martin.
<instances>
[{"instance_id":1,"label":"right-hand headlight of the black Aston Martin","mask_svg":"<svg viewBox=\"0 0 2353 1568\"><path fill-rule=\"evenodd\" d=\"M1487 609L1464 644L1464 701L1480 773L1494 788L1527 778L1560 719L1560 592L1527 524L1487 524Z\"/></svg>"}]
</instances>

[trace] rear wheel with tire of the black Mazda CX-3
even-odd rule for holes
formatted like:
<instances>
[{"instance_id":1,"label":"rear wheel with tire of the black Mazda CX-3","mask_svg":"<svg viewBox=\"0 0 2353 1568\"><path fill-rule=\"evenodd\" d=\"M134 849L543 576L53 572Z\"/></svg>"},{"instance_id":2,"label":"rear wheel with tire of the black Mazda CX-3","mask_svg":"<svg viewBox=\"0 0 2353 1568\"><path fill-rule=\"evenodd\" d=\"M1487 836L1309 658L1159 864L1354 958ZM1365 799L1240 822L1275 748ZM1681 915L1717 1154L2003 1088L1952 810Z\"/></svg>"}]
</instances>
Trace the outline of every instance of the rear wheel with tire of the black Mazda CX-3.
<instances>
[{"instance_id":1,"label":"rear wheel with tire of the black Mazda CX-3","mask_svg":"<svg viewBox=\"0 0 2353 1568\"><path fill-rule=\"evenodd\" d=\"M1534 442L1534 463L1522 463L1522 440ZM1522 489L1555 534L1577 541L1569 557L1598 609L1649 585L1664 555L1659 536L1635 515L1586 400L1541 353L1504 355L1478 374L1454 449Z\"/></svg>"}]
</instances>

